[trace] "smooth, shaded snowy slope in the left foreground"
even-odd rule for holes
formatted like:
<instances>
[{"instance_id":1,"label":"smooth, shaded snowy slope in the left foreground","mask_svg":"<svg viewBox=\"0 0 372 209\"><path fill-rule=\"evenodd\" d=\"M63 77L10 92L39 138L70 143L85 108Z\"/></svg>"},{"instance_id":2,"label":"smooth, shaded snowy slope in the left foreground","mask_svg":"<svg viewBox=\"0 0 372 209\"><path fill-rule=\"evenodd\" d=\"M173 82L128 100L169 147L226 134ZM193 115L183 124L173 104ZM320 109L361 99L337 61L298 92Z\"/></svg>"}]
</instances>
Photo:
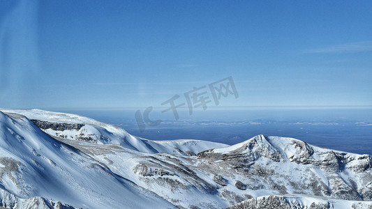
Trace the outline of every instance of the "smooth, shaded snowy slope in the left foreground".
<instances>
[{"instance_id":1,"label":"smooth, shaded snowy slope in the left foreground","mask_svg":"<svg viewBox=\"0 0 372 209\"><path fill-rule=\"evenodd\" d=\"M172 207L168 201L112 173L79 150L42 132L27 118L0 111L1 199L42 196L82 208ZM9 197L10 199L5 199ZM125 197L125 201L123 198ZM24 208L17 202L19 208ZM22 203L25 204L25 203Z\"/></svg>"}]
</instances>

